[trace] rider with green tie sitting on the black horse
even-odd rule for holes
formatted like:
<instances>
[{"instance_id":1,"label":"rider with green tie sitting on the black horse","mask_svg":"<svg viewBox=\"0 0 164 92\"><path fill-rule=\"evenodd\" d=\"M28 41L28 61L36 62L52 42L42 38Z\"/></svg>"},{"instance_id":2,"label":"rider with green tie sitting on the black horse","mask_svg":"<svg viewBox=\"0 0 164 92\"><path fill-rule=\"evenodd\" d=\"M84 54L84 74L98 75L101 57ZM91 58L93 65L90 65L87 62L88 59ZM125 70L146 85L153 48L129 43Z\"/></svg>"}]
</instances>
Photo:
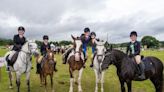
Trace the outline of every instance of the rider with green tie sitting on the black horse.
<instances>
[{"instance_id":1,"label":"rider with green tie sitting on the black horse","mask_svg":"<svg viewBox=\"0 0 164 92\"><path fill-rule=\"evenodd\" d=\"M144 74L145 65L141 61L141 56L140 56L140 42L137 41L137 32L136 31L132 31L130 33L130 39L131 39L131 42L129 42L129 44L127 46L127 54L130 57L134 57L135 58L136 63L138 64L138 67L139 67L139 69L141 71L139 77L141 79L145 79L145 74Z\"/></svg>"}]
</instances>

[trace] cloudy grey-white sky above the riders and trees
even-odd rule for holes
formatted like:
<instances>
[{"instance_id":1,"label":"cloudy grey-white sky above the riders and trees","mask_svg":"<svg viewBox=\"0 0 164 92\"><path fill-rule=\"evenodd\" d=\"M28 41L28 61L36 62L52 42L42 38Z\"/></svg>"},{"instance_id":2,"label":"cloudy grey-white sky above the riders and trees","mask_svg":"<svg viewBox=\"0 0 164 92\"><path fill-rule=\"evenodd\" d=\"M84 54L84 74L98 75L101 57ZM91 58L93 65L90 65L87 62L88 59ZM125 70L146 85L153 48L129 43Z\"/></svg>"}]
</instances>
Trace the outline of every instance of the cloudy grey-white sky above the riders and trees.
<instances>
[{"instance_id":1,"label":"cloudy grey-white sky above the riders and trees","mask_svg":"<svg viewBox=\"0 0 164 92\"><path fill-rule=\"evenodd\" d=\"M109 42L127 42L136 30L164 40L163 0L0 0L0 38L12 38L18 26L28 39L71 40L85 27Z\"/></svg>"}]
</instances>

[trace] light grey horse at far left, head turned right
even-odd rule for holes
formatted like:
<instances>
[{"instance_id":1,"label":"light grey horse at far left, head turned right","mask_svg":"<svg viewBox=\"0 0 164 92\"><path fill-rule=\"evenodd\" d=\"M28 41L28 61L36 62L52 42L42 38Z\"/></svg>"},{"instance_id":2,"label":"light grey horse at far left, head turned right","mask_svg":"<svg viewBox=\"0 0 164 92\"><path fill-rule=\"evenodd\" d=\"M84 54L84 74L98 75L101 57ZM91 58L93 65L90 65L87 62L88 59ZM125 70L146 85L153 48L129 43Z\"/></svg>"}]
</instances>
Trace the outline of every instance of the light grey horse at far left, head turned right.
<instances>
[{"instance_id":1,"label":"light grey horse at far left, head turned right","mask_svg":"<svg viewBox=\"0 0 164 92\"><path fill-rule=\"evenodd\" d=\"M19 55L17 57L17 60L12 66L7 65L6 58L8 55L10 55L11 51L7 52L5 54L5 62L7 68L9 68L9 80L10 80L10 86L9 88L13 88L12 84L12 72L16 73L16 84L17 84L17 92L20 92L20 77L23 73L26 74L26 80L27 80L27 86L28 86L28 92L30 92L30 70L32 67L31 63L31 56L34 53L37 53L37 44L34 41L27 41L23 46L22 49L19 52Z\"/></svg>"}]
</instances>

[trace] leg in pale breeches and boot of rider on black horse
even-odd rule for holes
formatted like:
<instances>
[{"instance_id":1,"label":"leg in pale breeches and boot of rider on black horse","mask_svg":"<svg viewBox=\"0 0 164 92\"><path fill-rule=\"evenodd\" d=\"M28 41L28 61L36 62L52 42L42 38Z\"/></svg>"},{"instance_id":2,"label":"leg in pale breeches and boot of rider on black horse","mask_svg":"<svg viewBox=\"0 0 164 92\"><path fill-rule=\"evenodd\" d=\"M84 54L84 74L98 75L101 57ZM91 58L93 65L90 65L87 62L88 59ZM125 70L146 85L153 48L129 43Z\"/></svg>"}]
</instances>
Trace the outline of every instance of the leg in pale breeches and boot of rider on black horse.
<instances>
[{"instance_id":1,"label":"leg in pale breeches and boot of rider on black horse","mask_svg":"<svg viewBox=\"0 0 164 92\"><path fill-rule=\"evenodd\" d=\"M137 56L135 56L135 59L136 59L136 62L137 62L137 64L138 64L138 66L139 66L139 69L140 69L140 71L141 71L141 76L140 76L140 78L141 79L145 79L145 65L144 65L144 63L141 61L141 56L140 55L137 55Z\"/></svg>"}]
</instances>

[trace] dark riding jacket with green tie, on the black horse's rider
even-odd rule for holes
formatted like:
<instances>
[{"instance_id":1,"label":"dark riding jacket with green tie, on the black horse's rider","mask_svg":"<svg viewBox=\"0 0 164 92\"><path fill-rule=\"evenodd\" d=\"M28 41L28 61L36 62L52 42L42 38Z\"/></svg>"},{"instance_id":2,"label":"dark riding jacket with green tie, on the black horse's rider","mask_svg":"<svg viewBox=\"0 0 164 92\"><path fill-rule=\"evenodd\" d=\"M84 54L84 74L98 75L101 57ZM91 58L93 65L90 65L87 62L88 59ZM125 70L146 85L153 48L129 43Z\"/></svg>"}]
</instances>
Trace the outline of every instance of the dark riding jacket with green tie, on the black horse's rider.
<instances>
[{"instance_id":1,"label":"dark riding jacket with green tie, on the black horse's rider","mask_svg":"<svg viewBox=\"0 0 164 92\"><path fill-rule=\"evenodd\" d=\"M130 56L136 56L136 55L140 55L140 42L138 41L135 41L134 43L130 42L128 43L128 46L127 46L127 55L130 55Z\"/></svg>"}]
</instances>

